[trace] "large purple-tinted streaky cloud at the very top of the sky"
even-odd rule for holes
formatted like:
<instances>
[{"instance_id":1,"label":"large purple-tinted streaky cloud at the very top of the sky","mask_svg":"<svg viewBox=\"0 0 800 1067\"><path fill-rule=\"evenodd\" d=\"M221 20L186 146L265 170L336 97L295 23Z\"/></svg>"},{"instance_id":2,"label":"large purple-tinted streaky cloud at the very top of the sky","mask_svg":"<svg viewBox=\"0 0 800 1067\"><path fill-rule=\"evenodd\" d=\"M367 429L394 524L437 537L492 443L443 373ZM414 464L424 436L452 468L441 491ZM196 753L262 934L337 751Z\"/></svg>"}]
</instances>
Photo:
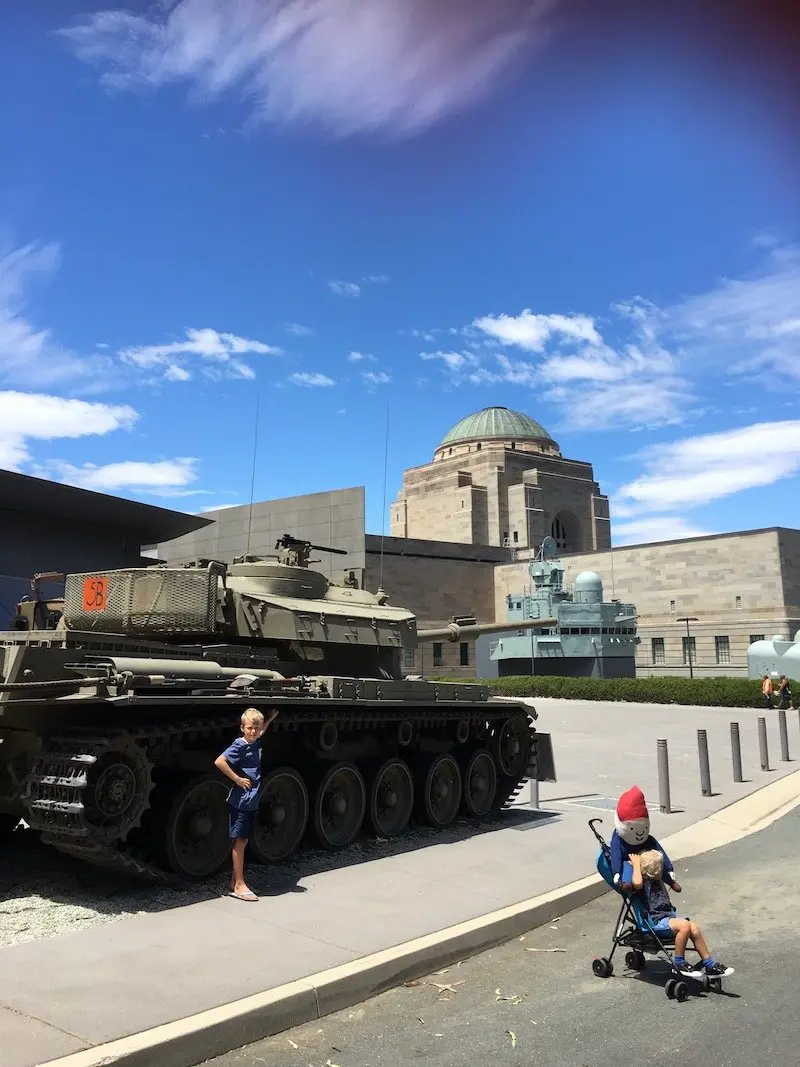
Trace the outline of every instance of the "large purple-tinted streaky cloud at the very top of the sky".
<instances>
[{"instance_id":1,"label":"large purple-tinted streaky cloud at the very top of the sky","mask_svg":"<svg viewBox=\"0 0 800 1067\"><path fill-rule=\"evenodd\" d=\"M545 36L555 0L169 0L63 34L110 87L236 92L254 120L411 136L469 107Z\"/></svg>"}]
</instances>

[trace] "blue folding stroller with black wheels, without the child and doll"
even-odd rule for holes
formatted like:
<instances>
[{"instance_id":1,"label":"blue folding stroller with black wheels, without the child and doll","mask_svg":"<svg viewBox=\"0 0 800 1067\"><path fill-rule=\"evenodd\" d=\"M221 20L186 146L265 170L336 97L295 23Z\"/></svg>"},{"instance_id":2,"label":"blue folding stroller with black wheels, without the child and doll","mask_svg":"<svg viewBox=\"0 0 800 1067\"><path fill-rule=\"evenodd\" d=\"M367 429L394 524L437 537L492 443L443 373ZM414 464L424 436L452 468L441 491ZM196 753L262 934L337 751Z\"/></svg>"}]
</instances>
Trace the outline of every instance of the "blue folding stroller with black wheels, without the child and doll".
<instances>
[{"instance_id":1,"label":"blue folding stroller with black wheels, without the child and doll","mask_svg":"<svg viewBox=\"0 0 800 1067\"><path fill-rule=\"evenodd\" d=\"M602 823L602 818L590 818L589 828L599 842L601 850L597 854L597 871L608 882L608 885L620 894L622 905L617 919L617 926L613 934L613 944L608 956L594 959L592 970L598 978L608 978L613 974L613 964L611 958L618 947L627 949L625 953L625 966L631 971L642 971L646 967L645 953L652 956L660 956L667 961L670 968L670 977L665 987L665 992L670 1000L685 1001L689 996L689 986L684 981L692 977L699 982L703 989L708 992L721 993L722 980L710 977L701 968L687 975L675 967L674 937L672 934L656 933L650 917L644 909L644 905L639 893L626 893L613 882L611 875L611 849L603 840L601 833L594 828L595 823ZM688 946L687 946L688 947ZM691 950L694 951L693 949Z\"/></svg>"}]
</instances>

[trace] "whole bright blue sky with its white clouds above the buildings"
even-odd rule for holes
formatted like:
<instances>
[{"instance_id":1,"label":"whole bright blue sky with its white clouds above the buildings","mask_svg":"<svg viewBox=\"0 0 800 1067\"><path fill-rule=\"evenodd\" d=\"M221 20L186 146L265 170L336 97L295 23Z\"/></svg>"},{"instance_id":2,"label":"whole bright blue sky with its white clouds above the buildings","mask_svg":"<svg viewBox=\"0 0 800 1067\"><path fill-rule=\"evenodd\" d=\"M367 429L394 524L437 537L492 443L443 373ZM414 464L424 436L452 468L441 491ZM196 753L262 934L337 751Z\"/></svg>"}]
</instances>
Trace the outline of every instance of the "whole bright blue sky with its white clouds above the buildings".
<instances>
[{"instance_id":1,"label":"whole bright blue sky with its white clouds above the buildings","mask_svg":"<svg viewBox=\"0 0 800 1067\"><path fill-rule=\"evenodd\" d=\"M5 5L0 466L245 503L258 400L256 498L380 531L387 418L388 505L505 404L614 543L800 526L784 71L682 6Z\"/></svg>"}]
</instances>

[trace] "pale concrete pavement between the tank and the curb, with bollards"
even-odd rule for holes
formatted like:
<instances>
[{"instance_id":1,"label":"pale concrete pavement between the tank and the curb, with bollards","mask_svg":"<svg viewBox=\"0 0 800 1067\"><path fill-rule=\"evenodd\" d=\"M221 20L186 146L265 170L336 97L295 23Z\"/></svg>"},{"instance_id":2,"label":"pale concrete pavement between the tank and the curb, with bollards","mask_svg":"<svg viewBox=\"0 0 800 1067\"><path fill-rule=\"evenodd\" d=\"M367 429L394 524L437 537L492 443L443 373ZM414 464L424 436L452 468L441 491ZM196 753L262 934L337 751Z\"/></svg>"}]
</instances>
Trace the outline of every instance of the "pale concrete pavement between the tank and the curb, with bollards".
<instances>
[{"instance_id":1,"label":"pale concrete pavement between the tank and the curb, with bollards","mask_svg":"<svg viewBox=\"0 0 800 1067\"><path fill-rule=\"evenodd\" d=\"M221 895L0 949L3 1067L33 1067L225 1004L590 874L595 848L586 821L599 815L610 835L615 798L633 782L649 798L653 832L667 837L798 767L780 762L774 712L774 769L763 773L757 712L554 700L535 706L539 728L553 733L559 775L557 784L542 785L538 813L521 798L487 831L463 823L436 843L417 831L383 851L308 854L281 871L254 872L253 887L266 894L257 904ZM731 774L732 720L740 723L748 779L739 785ZM717 793L708 798L700 792L698 727L708 732ZM795 755L798 733L794 712ZM659 737L670 745L671 815L658 812Z\"/></svg>"}]
</instances>

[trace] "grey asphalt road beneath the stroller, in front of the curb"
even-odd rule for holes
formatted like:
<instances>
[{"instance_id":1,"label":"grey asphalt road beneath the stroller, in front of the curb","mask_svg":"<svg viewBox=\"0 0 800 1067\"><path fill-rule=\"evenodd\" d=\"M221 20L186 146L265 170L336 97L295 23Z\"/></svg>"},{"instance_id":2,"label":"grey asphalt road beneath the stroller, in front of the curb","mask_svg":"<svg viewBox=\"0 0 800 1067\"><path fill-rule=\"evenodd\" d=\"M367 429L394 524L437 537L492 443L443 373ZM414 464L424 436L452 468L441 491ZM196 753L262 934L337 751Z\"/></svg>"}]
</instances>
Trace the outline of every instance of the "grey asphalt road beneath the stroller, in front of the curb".
<instances>
[{"instance_id":1,"label":"grey asphalt road beneath the stroller, in front of the curb","mask_svg":"<svg viewBox=\"0 0 800 1067\"><path fill-rule=\"evenodd\" d=\"M607 822L607 821L606 821ZM674 899L736 973L678 1004L663 970L611 978L614 897L481 956L217 1060L214 1067L768 1067L800 1063L800 808L676 863ZM591 848L587 829L587 848ZM532 862L535 859L532 858ZM548 950L561 950L558 952ZM668 1058L671 1057L671 1058Z\"/></svg>"}]
</instances>

